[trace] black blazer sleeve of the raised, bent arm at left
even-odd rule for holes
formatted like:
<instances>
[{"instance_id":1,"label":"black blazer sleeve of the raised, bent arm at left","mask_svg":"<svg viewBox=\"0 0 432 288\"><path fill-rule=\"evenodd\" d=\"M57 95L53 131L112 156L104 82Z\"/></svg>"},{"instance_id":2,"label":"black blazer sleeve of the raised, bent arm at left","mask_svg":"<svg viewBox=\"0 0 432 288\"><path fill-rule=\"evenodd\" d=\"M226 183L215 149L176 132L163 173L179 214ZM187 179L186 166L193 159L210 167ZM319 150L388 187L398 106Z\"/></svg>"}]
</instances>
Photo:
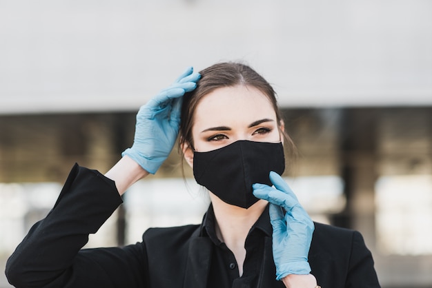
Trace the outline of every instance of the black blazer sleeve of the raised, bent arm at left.
<instances>
[{"instance_id":1,"label":"black blazer sleeve of the raised, bent arm at left","mask_svg":"<svg viewBox=\"0 0 432 288\"><path fill-rule=\"evenodd\" d=\"M114 181L75 165L46 218L6 263L15 287L144 287L144 244L81 249L122 203Z\"/></svg>"}]
</instances>

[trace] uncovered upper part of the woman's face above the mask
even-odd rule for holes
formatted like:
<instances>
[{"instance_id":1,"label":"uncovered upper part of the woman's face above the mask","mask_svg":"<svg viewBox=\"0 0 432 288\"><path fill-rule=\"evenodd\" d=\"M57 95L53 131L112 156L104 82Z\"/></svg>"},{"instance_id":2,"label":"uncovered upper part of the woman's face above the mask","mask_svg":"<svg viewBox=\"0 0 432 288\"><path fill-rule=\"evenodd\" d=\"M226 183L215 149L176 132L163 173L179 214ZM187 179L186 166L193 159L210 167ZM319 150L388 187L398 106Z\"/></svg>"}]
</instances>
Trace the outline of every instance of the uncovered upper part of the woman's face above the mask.
<instances>
[{"instance_id":1,"label":"uncovered upper part of the woman's face above the mask","mask_svg":"<svg viewBox=\"0 0 432 288\"><path fill-rule=\"evenodd\" d=\"M197 152L207 152L239 140L275 143L282 141L281 124L267 96L256 88L218 88L197 105L193 144Z\"/></svg>"}]
</instances>

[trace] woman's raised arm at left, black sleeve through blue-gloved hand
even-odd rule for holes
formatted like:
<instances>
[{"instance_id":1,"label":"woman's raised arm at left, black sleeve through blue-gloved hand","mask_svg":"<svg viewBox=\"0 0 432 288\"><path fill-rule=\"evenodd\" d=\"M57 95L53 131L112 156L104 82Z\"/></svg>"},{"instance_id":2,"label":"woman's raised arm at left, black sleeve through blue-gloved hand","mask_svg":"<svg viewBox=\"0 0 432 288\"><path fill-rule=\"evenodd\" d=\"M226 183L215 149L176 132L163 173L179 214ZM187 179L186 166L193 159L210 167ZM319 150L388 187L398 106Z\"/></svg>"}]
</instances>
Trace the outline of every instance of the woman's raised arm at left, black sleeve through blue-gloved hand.
<instances>
[{"instance_id":1,"label":"woman's raised arm at left, black sleeve through blue-gloved hand","mask_svg":"<svg viewBox=\"0 0 432 288\"><path fill-rule=\"evenodd\" d=\"M142 287L141 245L81 250L117 209L123 194L154 174L173 148L181 96L195 89L199 74L189 68L142 106L132 147L105 175L75 165L55 206L30 229L8 259L6 276L15 287Z\"/></svg>"}]
</instances>

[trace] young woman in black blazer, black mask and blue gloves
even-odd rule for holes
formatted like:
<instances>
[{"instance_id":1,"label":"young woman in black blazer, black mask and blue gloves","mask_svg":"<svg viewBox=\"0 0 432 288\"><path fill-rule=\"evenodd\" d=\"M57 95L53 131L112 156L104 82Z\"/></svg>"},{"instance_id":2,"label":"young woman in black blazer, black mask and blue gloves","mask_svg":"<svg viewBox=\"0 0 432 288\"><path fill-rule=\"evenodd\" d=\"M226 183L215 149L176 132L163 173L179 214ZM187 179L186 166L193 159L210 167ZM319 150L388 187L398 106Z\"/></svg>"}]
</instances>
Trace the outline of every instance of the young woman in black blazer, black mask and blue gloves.
<instances>
[{"instance_id":1,"label":"young woman in black blazer, black mask and blue gloves","mask_svg":"<svg viewBox=\"0 0 432 288\"><path fill-rule=\"evenodd\" d=\"M126 247L81 249L120 195L157 172L177 134L210 194L202 224L148 229ZM190 68L141 107L132 147L105 175L72 168L51 212L10 256L8 280L16 287L380 287L360 233L314 224L279 176L283 143L275 92L262 76L239 63L200 74Z\"/></svg>"}]
</instances>

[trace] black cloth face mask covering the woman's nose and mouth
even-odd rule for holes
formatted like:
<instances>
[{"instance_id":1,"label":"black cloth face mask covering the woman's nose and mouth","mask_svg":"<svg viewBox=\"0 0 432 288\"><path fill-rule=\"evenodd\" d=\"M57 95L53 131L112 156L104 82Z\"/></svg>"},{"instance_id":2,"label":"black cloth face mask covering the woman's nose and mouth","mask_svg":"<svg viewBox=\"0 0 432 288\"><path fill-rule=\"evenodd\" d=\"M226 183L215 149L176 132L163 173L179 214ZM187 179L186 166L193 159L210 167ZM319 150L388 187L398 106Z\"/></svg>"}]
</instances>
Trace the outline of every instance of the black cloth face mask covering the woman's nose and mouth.
<instances>
[{"instance_id":1,"label":"black cloth face mask covering the woman's nose and mouth","mask_svg":"<svg viewBox=\"0 0 432 288\"><path fill-rule=\"evenodd\" d=\"M194 152L193 176L225 203L248 208L258 198L252 184L273 185L271 171L282 174L285 169L282 143L236 141L209 152Z\"/></svg>"}]
</instances>

